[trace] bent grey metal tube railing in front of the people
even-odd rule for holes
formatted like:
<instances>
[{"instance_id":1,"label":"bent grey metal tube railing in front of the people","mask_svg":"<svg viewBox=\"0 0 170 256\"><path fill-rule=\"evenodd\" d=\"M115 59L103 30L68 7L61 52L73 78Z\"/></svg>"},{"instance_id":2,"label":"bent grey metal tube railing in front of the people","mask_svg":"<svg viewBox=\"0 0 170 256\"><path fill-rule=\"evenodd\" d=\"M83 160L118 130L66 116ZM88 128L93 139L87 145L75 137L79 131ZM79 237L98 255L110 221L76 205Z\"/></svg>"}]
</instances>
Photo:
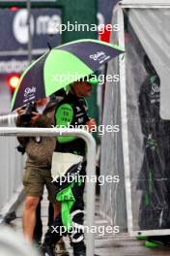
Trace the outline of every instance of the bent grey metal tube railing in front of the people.
<instances>
[{"instance_id":1,"label":"bent grey metal tube railing in front of the people","mask_svg":"<svg viewBox=\"0 0 170 256\"><path fill-rule=\"evenodd\" d=\"M0 137L28 137L28 136L76 136L83 139L87 145L87 176L95 176L96 169L96 142L91 134L83 129L59 129L59 128L15 128L2 127L0 128ZM89 178L91 180L91 178ZM87 182L87 225L94 226L95 221L95 183ZM94 234L87 233L87 251L86 255L94 256Z\"/></svg>"}]
</instances>

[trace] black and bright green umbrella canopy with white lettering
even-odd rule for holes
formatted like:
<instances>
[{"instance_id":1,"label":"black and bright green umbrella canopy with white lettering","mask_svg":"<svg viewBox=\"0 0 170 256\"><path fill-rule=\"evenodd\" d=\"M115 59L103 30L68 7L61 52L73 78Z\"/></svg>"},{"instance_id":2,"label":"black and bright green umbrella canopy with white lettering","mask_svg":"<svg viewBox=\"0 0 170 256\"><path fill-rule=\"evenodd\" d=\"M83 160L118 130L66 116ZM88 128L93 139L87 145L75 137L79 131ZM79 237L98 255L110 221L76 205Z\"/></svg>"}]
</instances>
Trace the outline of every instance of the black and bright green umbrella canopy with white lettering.
<instances>
[{"instance_id":1,"label":"black and bright green umbrella canopy with white lettering","mask_svg":"<svg viewBox=\"0 0 170 256\"><path fill-rule=\"evenodd\" d=\"M77 40L52 48L22 74L12 99L12 110L50 96L71 82L94 73L123 49L99 40Z\"/></svg>"}]
</instances>

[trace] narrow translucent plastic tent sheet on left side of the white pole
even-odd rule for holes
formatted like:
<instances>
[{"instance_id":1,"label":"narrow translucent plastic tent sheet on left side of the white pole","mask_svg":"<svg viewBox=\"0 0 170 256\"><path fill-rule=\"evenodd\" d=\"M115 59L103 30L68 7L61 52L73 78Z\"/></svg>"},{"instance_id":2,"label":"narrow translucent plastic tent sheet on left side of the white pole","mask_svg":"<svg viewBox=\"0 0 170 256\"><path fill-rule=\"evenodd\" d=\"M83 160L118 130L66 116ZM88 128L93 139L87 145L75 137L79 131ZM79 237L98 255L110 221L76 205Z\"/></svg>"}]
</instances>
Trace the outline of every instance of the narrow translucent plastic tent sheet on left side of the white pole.
<instances>
[{"instance_id":1,"label":"narrow translucent plastic tent sheet on left side of the white pole","mask_svg":"<svg viewBox=\"0 0 170 256\"><path fill-rule=\"evenodd\" d=\"M117 23L115 14L112 23ZM111 42L118 44L117 34L111 36ZM119 59L113 59L108 65L107 75L119 74ZM121 129L120 82L106 82L104 95L103 124L120 125ZM122 135L105 133L101 139L101 175L120 176L119 183L105 183L100 188L100 210L112 222L119 225L121 232L127 231L127 213L125 204L125 171L123 161Z\"/></svg>"}]
</instances>

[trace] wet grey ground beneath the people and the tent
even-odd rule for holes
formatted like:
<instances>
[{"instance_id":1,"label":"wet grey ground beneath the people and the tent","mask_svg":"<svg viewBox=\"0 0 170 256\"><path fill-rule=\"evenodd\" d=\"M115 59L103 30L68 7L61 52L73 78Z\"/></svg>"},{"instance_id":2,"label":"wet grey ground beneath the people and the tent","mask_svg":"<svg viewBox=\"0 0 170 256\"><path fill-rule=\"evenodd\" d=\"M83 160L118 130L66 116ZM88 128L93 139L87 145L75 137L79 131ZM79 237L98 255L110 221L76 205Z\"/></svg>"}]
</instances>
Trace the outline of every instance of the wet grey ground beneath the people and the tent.
<instances>
[{"instance_id":1,"label":"wet grey ground beneath the people and the tent","mask_svg":"<svg viewBox=\"0 0 170 256\"><path fill-rule=\"evenodd\" d=\"M44 197L45 198L45 197ZM98 214L98 203L96 208L96 225L97 226L108 226L108 223L105 219L99 216ZM22 232L22 208L19 206L16 210L17 218L13 221L14 229L18 232ZM47 208L48 201L42 201L42 223L43 223L43 234L47 229ZM86 223L85 223L86 224ZM65 239L67 248L71 253L71 246L69 239ZM142 245L142 240L136 240L129 238L127 234L119 234L116 237L113 234L107 234L100 236L100 234L95 235L95 252L100 256L170 256L170 248L146 248Z\"/></svg>"}]
</instances>

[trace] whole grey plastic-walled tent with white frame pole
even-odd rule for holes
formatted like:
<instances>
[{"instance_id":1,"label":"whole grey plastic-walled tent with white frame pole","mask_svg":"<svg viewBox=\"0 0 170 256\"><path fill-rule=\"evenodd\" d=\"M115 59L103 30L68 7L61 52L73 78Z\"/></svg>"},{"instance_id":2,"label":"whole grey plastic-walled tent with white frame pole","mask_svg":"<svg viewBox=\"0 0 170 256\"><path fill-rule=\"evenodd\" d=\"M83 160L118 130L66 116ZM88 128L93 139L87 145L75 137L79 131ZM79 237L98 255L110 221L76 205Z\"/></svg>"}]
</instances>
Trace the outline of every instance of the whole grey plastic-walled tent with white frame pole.
<instances>
[{"instance_id":1,"label":"whole grey plastic-walled tent with white frame pole","mask_svg":"<svg viewBox=\"0 0 170 256\"><path fill-rule=\"evenodd\" d=\"M170 108L162 106L161 117L159 109L160 90L161 99L170 99L170 10L129 9L125 20L125 74L120 59L109 63L107 74L120 74L121 80L106 82L103 113L104 125L119 124L121 130L104 134L101 142L101 174L119 175L120 183L101 187L101 209L121 231L128 217L135 234L165 235L170 229L170 121L161 117L170 115ZM114 32L111 43L118 44L118 36Z\"/></svg>"}]
</instances>

